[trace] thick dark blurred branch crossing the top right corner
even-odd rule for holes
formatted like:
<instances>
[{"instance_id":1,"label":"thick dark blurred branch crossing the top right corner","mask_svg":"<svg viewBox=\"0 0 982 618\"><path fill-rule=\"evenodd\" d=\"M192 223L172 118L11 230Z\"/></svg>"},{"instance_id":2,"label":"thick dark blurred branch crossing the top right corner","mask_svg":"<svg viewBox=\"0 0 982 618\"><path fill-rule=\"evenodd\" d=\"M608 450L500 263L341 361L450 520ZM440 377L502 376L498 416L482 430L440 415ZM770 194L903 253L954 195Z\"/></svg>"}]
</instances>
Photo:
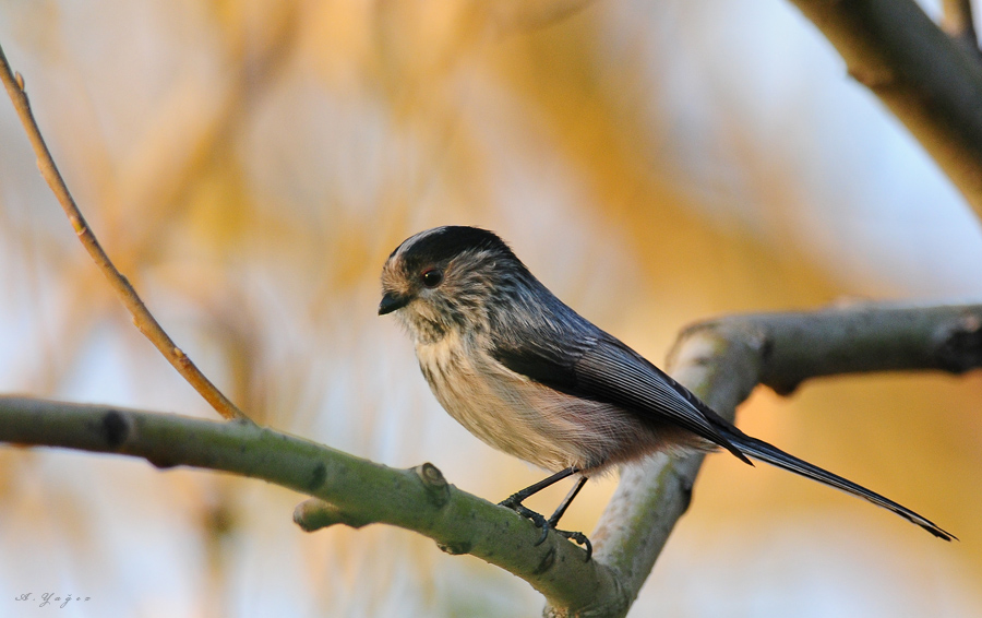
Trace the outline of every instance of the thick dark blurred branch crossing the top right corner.
<instances>
[{"instance_id":1,"label":"thick dark blurred branch crossing the top right corner","mask_svg":"<svg viewBox=\"0 0 982 618\"><path fill-rule=\"evenodd\" d=\"M982 216L982 62L913 0L793 0Z\"/></svg>"}]
</instances>

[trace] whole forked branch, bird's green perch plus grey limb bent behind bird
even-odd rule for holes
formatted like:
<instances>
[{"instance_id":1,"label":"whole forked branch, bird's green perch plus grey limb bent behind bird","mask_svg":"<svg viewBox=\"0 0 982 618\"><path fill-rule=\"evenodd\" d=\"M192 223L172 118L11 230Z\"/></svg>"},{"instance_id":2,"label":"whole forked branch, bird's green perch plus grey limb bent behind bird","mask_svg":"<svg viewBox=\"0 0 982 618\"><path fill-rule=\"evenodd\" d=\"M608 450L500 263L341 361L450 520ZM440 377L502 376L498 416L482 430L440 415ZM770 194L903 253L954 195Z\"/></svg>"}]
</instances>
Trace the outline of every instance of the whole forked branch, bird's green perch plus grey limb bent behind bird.
<instances>
[{"instance_id":1,"label":"whole forked branch, bird's green perch plus grey limb bent behind bird","mask_svg":"<svg viewBox=\"0 0 982 618\"><path fill-rule=\"evenodd\" d=\"M719 413L757 384L788 392L833 373L982 365L982 305L861 306L723 318L682 333L671 372ZM529 582L555 616L623 616L688 506L702 456L625 467L592 539L595 559L514 512L460 491L430 464L396 470L242 421L0 397L0 441L143 457L261 478L313 497L304 530L386 523Z\"/></svg>"}]
</instances>

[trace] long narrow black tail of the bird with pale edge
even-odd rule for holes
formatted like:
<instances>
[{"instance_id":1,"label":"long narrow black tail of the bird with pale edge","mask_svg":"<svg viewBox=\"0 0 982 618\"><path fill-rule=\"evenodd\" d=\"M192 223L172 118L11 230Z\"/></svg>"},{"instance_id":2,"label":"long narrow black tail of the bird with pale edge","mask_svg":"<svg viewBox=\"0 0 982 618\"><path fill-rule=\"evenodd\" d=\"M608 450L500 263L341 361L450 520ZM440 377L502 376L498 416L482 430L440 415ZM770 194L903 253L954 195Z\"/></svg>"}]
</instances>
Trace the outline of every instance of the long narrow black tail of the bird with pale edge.
<instances>
[{"instance_id":1,"label":"long narrow black tail of the bird with pale edge","mask_svg":"<svg viewBox=\"0 0 982 618\"><path fill-rule=\"evenodd\" d=\"M944 538L945 540L957 538L954 534L945 532L931 520L922 518L910 509L901 507L897 502L884 498L875 491L870 491L865 487L857 485L851 480L842 478L841 476L835 475L828 471L822 470L821 467L812 465L806 461L800 460L794 455L790 455L785 451L778 449L777 447L773 447L767 442L757 440L756 438L751 438L750 436L740 432L739 429L736 433L730 433L727 436L727 438L729 438L730 442L732 442L738 449L740 449L741 452L750 457L769 463L771 465L776 465L777 467L787 470L788 472L793 472L794 474L800 474L801 476L812 478L814 480L817 480L818 483L824 483L825 485L835 487L836 489L841 489L847 494L852 494L853 496L865 498L877 507L883 507L884 509L894 511L905 520L918 524L938 538Z\"/></svg>"}]
</instances>

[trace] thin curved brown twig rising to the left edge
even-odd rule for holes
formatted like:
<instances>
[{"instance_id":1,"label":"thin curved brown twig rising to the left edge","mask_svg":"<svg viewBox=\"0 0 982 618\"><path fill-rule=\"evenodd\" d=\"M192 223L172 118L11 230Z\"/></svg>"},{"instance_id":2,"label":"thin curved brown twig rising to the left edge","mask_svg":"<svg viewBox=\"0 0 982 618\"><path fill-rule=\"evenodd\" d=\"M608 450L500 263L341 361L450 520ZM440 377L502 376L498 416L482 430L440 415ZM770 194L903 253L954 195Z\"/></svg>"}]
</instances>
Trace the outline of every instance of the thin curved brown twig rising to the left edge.
<instances>
[{"instance_id":1,"label":"thin curved brown twig rising to the left edge","mask_svg":"<svg viewBox=\"0 0 982 618\"><path fill-rule=\"evenodd\" d=\"M160 324L146 308L146 305L140 299L136 290L133 289L133 286L127 277L117 270L109 259L109 255L103 250L99 241L85 222L85 217L82 216L82 211L79 210L75 200L72 198L71 192L69 192L68 186L65 186L64 179L61 177L61 173L58 171L58 166L55 165L51 152L48 150L47 144L45 144L45 139L41 136L37 121L34 119L34 114L31 110L31 103L27 100L27 94L24 91L24 79L20 73L14 75L13 71L11 71L10 63L7 61L7 56L3 54L2 47L0 47L0 81L2 81L3 85L7 87L7 93L10 95L11 102L13 102L14 109L16 109L17 116L21 117L21 122L27 133L27 139L31 141L34 153L37 156L37 167L40 170L41 176L47 181L48 187L51 188L51 191L61 204L64 214L68 215L69 222L71 222L72 228L74 228L75 234L79 236L82 246L88 251L88 254L96 263L96 266L98 266L103 274L106 275L109 285L133 316L133 324L157 347L158 350L160 350L164 358L178 370L188 383L190 383L194 390L196 390L201 396L218 412L218 414L228 419L248 420L249 418L242 411L229 401L228 397L221 394L221 392L191 361L188 355L173 343L164 329L160 328Z\"/></svg>"}]
</instances>

